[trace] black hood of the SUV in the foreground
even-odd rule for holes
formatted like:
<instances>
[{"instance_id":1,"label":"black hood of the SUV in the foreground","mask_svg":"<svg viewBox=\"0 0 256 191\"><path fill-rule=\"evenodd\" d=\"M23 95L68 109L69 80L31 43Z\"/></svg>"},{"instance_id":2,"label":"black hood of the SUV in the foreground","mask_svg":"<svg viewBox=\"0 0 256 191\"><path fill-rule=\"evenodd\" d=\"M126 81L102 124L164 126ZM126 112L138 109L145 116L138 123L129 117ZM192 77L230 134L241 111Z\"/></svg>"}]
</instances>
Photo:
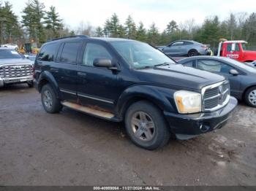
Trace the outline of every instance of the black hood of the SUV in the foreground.
<instances>
[{"instance_id":1,"label":"black hood of the SUV in the foreground","mask_svg":"<svg viewBox=\"0 0 256 191\"><path fill-rule=\"evenodd\" d=\"M157 66L136 71L140 73L138 77L141 81L194 90L200 90L206 85L212 85L225 80L225 77L218 74L193 69L181 64Z\"/></svg>"}]
</instances>

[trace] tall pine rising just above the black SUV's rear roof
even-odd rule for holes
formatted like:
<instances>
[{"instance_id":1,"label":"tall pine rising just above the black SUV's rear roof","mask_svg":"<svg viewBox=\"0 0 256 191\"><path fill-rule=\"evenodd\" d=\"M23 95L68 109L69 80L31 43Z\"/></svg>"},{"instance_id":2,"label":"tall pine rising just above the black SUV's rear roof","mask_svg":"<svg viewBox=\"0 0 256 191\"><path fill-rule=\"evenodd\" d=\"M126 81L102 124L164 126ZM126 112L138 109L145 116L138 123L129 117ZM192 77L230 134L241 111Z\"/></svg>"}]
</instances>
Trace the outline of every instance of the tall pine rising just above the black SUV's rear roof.
<instances>
[{"instance_id":1,"label":"tall pine rising just above the black SUV's rear roof","mask_svg":"<svg viewBox=\"0 0 256 191\"><path fill-rule=\"evenodd\" d=\"M48 36L48 39L59 37L59 31L63 28L59 13L56 12L56 8L51 6L50 11L46 12L45 16L46 29L52 32L52 36Z\"/></svg>"}]
</instances>

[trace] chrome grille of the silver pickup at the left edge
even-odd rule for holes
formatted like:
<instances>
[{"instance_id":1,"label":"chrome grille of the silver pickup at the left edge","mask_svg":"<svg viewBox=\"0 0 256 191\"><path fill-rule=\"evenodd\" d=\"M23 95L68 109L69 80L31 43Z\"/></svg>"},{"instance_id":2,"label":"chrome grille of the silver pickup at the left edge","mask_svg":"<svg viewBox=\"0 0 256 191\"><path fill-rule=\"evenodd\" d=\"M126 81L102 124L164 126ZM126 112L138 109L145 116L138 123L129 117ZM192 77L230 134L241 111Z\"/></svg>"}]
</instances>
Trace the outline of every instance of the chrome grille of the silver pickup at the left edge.
<instances>
[{"instance_id":1,"label":"chrome grille of the silver pickup at the left edge","mask_svg":"<svg viewBox=\"0 0 256 191\"><path fill-rule=\"evenodd\" d=\"M15 64L0 66L1 78L28 77L33 75L31 64Z\"/></svg>"}]
</instances>

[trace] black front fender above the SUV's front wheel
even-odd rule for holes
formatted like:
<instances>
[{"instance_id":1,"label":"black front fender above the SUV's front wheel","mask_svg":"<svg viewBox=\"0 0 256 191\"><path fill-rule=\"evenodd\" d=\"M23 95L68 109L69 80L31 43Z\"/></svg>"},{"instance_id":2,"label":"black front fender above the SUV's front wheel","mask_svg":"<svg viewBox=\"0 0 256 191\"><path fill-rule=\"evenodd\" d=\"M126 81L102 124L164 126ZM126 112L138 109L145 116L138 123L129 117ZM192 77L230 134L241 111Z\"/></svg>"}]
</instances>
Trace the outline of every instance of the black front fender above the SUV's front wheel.
<instances>
[{"instance_id":1,"label":"black front fender above the SUV's front wheel","mask_svg":"<svg viewBox=\"0 0 256 191\"><path fill-rule=\"evenodd\" d=\"M151 101L165 112L177 112L176 104L173 99L173 93L175 91L176 90L170 88L153 85L135 85L128 87L118 98L116 113L118 117L123 117L129 105L138 100Z\"/></svg>"}]
</instances>

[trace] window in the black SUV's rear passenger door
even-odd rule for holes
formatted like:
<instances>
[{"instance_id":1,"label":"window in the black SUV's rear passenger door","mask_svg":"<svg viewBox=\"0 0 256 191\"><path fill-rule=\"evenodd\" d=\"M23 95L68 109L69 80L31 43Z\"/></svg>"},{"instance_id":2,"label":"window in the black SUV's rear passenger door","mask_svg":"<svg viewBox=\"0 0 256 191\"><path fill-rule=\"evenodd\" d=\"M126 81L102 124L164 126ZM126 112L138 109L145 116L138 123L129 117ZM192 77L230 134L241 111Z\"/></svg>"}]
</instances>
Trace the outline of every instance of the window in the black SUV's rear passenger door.
<instances>
[{"instance_id":1,"label":"window in the black SUV's rear passenger door","mask_svg":"<svg viewBox=\"0 0 256 191\"><path fill-rule=\"evenodd\" d=\"M62 63L76 63L79 47L79 42L66 42L61 52L60 61Z\"/></svg>"}]
</instances>

